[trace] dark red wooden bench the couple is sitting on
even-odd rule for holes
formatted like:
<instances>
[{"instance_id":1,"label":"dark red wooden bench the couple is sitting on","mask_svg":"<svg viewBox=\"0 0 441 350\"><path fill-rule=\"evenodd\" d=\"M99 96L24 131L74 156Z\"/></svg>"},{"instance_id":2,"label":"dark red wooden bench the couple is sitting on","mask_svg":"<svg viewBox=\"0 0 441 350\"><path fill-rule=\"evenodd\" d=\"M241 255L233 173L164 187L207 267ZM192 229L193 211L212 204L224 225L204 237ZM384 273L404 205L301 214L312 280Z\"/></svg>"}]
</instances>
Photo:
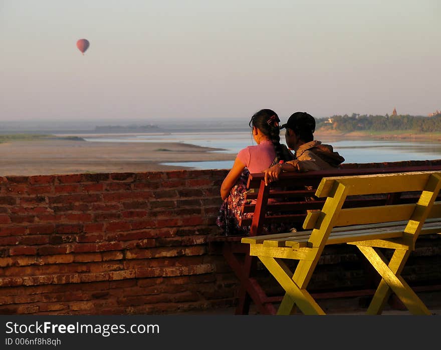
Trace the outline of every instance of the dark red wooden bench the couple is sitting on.
<instances>
[{"instance_id":1,"label":"dark red wooden bench the couple is sitting on","mask_svg":"<svg viewBox=\"0 0 441 350\"><path fill-rule=\"evenodd\" d=\"M303 230L302 224L307 211L321 209L323 199L314 196L321 179L331 176L386 174L396 172L441 170L441 164L430 165L424 162L418 166L400 166L383 168L338 168L332 170L310 171L305 173L283 173L277 182L265 186L263 173L250 174L248 189L254 189L247 194L247 199L253 203L246 203L242 211L253 212L252 219L244 219L242 226L251 226L250 236L263 233L264 225L270 223L290 223L298 231ZM346 207L355 207L363 201L363 205L390 205L408 203L414 200L414 193L384 193L371 198L350 198ZM270 201L273 198L276 201ZM367 203L366 201L369 201ZM211 236L209 238L210 251L222 251L227 263L240 281L236 314L248 314L251 301L259 313L275 314L274 303L282 300L282 295L268 295L264 286L255 277L258 259L249 255L249 245L242 244L243 236ZM371 272L371 271L368 271ZM333 290L322 293L313 293L315 298L349 297L373 294L374 289L363 290Z\"/></svg>"}]
</instances>

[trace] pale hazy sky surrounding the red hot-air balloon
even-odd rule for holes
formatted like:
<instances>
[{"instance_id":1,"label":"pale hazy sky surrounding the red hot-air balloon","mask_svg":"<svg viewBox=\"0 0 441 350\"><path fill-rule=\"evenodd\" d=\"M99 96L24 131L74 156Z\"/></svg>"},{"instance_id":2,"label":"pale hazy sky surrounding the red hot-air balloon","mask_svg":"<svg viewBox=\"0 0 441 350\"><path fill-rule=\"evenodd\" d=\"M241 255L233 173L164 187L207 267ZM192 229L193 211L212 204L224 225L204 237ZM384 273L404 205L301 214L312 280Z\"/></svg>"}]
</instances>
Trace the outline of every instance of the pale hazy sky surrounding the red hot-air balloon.
<instances>
[{"instance_id":1,"label":"pale hazy sky surrounding the red hot-air balloon","mask_svg":"<svg viewBox=\"0 0 441 350\"><path fill-rule=\"evenodd\" d=\"M440 4L0 0L0 120L427 115Z\"/></svg>"}]
</instances>

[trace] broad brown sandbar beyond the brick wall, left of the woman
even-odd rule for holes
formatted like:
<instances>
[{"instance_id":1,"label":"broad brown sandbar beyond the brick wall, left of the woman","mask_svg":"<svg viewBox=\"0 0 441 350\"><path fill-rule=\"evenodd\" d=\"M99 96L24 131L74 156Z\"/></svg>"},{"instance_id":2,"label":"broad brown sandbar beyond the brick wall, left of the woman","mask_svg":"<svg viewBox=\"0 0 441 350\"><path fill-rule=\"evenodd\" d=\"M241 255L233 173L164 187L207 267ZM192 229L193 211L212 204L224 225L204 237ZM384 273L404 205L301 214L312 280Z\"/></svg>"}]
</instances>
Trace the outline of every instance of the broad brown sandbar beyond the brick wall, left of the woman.
<instances>
[{"instance_id":1,"label":"broad brown sandbar beyond the brick wall, left of the woman","mask_svg":"<svg viewBox=\"0 0 441 350\"><path fill-rule=\"evenodd\" d=\"M191 168L160 163L236 157L215 150L178 142L12 141L0 143L0 176L169 171Z\"/></svg>"}]
</instances>

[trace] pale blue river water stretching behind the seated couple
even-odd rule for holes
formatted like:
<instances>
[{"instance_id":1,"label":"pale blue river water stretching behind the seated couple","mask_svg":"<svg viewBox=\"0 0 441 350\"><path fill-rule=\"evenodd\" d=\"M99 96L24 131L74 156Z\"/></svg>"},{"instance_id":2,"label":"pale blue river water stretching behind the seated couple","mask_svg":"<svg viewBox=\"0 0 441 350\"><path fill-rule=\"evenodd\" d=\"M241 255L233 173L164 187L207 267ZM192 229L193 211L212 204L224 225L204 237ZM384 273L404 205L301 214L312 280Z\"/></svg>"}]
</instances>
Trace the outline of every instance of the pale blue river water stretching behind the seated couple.
<instances>
[{"instance_id":1,"label":"pale blue river water stretching behind the seated couple","mask_svg":"<svg viewBox=\"0 0 441 350\"><path fill-rule=\"evenodd\" d=\"M171 134L151 135L103 135L100 137L82 136L86 141L94 142L182 142L203 147L220 148L224 152L237 154L242 148L255 145L251 132L177 132ZM281 136L282 142L284 137ZM441 144L415 141L384 141L384 140L336 140L323 143L332 144L345 163L395 162L403 160L441 159ZM178 165L194 169L229 169L232 161L215 162L173 162L165 165Z\"/></svg>"}]
</instances>

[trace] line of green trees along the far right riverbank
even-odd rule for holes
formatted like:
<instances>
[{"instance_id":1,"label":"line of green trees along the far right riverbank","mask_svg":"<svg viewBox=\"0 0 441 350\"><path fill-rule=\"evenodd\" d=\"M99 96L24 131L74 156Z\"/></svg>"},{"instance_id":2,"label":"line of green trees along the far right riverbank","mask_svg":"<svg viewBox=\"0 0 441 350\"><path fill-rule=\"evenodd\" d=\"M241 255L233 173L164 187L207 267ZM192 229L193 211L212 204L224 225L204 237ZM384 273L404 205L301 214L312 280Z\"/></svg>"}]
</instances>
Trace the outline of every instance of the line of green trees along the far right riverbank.
<instances>
[{"instance_id":1,"label":"line of green trees along the far right riverbank","mask_svg":"<svg viewBox=\"0 0 441 350\"><path fill-rule=\"evenodd\" d=\"M316 129L351 131L407 130L414 132L441 132L441 114L432 117L396 115L335 115L317 119Z\"/></svg>"}]
</instances>

